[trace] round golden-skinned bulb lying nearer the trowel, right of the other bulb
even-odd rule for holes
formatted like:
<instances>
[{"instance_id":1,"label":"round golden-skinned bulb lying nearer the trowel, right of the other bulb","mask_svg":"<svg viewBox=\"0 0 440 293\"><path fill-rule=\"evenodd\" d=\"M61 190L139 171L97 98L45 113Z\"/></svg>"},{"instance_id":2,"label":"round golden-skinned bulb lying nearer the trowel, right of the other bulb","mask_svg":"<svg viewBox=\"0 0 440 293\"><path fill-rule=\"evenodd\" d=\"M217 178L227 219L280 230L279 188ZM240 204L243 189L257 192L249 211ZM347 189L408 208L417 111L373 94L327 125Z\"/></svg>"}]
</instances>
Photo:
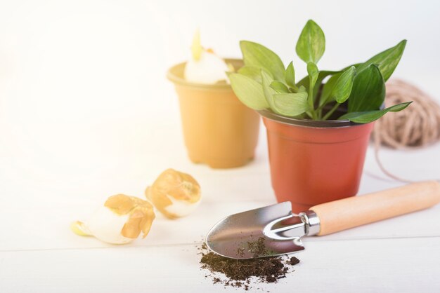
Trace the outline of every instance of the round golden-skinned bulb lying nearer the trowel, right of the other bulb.
<instances>
[{"instance_id":1,"label":"round golden-skinned bulb lying nearer the trowel, right of the other bulb","mask_svg":"<svg viewBox=\"0 0 440 293\"><path fill-rule=\"evenodd\" d=\"M184 217L200 203L200 185L191 176L174 169L162 172L145 190L151 203L170 219Z\"/></svg>"}]
</instances>

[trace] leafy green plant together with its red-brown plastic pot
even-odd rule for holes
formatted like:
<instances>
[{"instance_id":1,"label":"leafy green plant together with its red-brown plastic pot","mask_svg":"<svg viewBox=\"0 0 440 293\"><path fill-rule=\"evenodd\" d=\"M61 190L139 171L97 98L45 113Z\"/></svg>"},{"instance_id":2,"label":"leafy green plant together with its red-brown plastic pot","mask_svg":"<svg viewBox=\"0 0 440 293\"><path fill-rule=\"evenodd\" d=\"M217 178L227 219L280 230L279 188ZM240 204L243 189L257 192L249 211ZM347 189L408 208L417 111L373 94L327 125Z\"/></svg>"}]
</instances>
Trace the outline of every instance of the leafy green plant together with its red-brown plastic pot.
<instances>
[{"instance_id":1,"label":"leafy green plant together with its red-brown plastic pot","mask_svg":"<svg viewBox=\"0 0 440 293\"><path fill-rule=\"evenodd\" d=\"M294 211L356 195L373 121L410 102L384 109L385 81L406 40L369 60L337 71L318 69L325 36L309 20L297 41L308 75L265 46L240 41L245 66L228 74L239 100L266 125L273 190Z\"/></svg>"}]
</instances>

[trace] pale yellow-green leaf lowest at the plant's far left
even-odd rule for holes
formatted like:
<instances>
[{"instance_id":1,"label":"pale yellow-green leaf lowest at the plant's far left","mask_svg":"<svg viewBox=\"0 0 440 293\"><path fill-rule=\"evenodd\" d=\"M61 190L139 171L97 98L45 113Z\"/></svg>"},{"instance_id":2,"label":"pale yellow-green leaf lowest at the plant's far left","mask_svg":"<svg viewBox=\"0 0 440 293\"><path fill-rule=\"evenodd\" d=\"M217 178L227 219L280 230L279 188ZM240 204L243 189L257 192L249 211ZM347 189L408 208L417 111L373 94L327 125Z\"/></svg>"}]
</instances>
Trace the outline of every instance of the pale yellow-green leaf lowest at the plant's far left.
<instances>
[{"instance_id":1,"label":"pale yellow-green leaf lowest at the plant's far left","mask_svg":"<svg viewBox=\"0 0 440 293\"><path fill-rule=\"evenodd\" d=\"M257 81L242 74L229 74L229 80L238 100L247 107L254 110L262 110L269 107L264 97L263 88L261 88Z\"/></svg>"}]
</instances>

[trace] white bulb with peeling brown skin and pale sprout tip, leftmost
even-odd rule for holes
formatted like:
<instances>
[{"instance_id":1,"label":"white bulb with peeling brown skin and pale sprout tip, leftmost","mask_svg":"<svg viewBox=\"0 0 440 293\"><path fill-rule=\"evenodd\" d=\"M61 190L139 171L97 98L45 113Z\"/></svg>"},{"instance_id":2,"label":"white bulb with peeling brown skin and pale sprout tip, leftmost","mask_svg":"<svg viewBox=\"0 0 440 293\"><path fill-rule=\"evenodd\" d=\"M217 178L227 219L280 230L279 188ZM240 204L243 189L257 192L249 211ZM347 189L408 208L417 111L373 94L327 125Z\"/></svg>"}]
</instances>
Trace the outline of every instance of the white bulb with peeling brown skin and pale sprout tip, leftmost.
<instances>
[{"instance_id":1,"label":"white bulb with peeling brown skin and pale sprout tip, leftmost","mask_svg":"<svg viewBox=\"0 0 440 293\"><path fill-rule=\"evenodd\" d=\"M106 243L124 244L143 238L155 219L153 205L134 196L110 196L102 207L92 214L88 222L74 222L73 232L80 236L95 236Z\"/></svg>"}]
</instances>

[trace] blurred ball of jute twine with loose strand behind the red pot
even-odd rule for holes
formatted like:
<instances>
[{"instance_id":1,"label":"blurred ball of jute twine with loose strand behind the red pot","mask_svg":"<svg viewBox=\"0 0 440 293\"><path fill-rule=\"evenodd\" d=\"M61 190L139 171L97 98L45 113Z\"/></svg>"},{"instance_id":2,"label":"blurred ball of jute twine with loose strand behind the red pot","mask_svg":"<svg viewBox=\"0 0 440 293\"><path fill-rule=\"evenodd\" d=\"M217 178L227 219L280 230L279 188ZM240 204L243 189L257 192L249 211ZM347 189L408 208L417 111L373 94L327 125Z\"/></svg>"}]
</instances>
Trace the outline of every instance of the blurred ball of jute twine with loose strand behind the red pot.
<instances>
[{"instance_id":1,"label":"blurred ball of jute twine with loose strand behind the red pot","mask_svg":"<svg viewBox=\"0 0 440 293\"><path fill-rule=\"evenodd\" d=\"M392 149L420 149L440 140L439 104L405 81L394 79L387 82L385 107L408 101L413 101L408 108L389 113L377 120L373 132L377 164L384 174L401 182L413 181L398 177L384 168L379 158L380 146L383 144Z\"/></svg>"}]
</instances>

